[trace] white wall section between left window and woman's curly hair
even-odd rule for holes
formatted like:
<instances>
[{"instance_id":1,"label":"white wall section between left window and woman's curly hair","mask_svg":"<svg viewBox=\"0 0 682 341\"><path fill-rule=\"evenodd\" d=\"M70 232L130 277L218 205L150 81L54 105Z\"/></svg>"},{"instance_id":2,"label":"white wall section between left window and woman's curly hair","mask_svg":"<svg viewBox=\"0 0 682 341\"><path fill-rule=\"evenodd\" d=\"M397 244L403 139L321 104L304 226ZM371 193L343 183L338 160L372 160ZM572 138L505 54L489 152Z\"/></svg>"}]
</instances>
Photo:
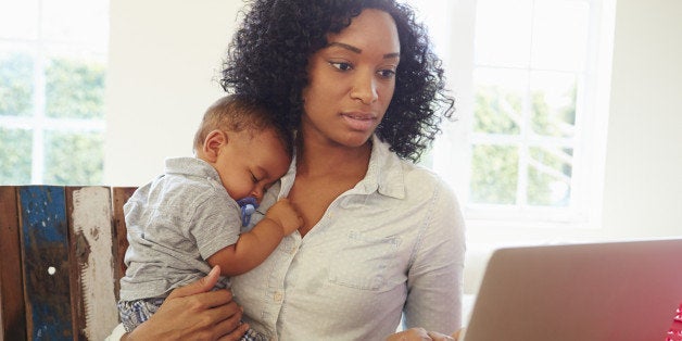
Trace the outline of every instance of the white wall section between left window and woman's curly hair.
<instances>
[{"instance_id":1,"label":"white wall section between left window and woman's curly hair","mask_svg":"<svg viewBox=\"0 0 682 341\"><path fill-rule=\"evenodd\" d=\"M140 186L167 156L191 155L222 93L220 63L240 1L111 1L104 182Z\"/></svg>"}]
</instances>

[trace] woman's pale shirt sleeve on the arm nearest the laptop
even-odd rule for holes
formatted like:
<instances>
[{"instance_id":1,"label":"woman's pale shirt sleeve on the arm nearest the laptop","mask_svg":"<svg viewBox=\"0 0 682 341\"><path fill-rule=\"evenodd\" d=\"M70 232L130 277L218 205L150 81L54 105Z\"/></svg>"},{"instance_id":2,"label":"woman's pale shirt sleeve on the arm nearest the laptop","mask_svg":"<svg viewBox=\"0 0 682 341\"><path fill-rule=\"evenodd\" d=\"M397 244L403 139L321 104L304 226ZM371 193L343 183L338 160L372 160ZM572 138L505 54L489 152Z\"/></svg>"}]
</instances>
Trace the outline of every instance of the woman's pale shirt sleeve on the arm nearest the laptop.
<instances>
[{"instance_id":1,"label":"woman's pale shirt sleeve on the arm nearest the laptop","mask_svg":"<svg viewBox=\"0 0 682 341\"><path fill-rule=\"evenodd\" d=\"M462 326L465 224L442 181L430 210L407 276L404 327L451 334Z\"/></svg>"}]
</instances>

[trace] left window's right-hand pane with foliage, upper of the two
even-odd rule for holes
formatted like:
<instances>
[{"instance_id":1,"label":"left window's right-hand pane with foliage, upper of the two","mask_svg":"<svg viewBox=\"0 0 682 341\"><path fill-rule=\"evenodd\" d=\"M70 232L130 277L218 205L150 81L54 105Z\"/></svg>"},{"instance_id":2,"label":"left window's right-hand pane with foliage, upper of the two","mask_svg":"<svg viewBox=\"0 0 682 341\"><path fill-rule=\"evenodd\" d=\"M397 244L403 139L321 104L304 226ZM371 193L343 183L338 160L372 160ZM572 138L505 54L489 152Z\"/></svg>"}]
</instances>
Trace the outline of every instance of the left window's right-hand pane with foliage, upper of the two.
<instances>
[{"instance_id":1,"label":"left window's right-hand pane with foliage, upper of the two","mask_svg":"<svg viewBox=\"0 0 682 341\"><path fill-rule=\"evenodd\" d=\"M46 115L104 118L104 66L75 59L52 59L46 70Z\"/></svg>"}]
</instances>

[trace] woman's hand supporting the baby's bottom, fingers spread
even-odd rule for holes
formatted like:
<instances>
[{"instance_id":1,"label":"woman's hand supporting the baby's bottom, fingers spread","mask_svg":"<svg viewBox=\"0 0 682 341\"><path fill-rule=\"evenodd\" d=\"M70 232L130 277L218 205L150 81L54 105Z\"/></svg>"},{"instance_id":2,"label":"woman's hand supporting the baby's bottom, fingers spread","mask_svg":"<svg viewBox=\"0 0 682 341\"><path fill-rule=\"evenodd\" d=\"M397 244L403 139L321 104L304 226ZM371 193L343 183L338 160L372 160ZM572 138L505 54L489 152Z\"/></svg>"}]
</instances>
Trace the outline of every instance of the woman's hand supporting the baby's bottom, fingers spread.
<instances>
[{"instance_id":1,"label":"woman's hand supporting the baby's bottom, fingers spread","mask_svg":"<svg viewBox=\"0 0 682 341\"><path fill-rule=\"evenodd\" d=\"M122 340L239 340L249 326L241 324L242 310L229 290L211 291L220 275L211 273L177 288L152 317Z\"/></svg>"}]
</instances>

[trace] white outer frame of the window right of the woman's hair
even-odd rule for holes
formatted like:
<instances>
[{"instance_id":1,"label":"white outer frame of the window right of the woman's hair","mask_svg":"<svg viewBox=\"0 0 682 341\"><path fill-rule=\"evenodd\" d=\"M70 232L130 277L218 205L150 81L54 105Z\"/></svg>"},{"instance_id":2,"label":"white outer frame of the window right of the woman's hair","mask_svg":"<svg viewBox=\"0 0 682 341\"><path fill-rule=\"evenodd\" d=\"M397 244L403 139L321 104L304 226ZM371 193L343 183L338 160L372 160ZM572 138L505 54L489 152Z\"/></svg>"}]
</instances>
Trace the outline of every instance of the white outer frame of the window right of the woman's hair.
<instances>
[{"instance_id":1,"label":"white outer frame of the window right of the woman's hair","mask_svg":"<svg viewBox=\"0 0 682 341\"><path fill-rule=\"evenodd\" d=\"M476 231L477 236L480 232L481 239L490 238L492 229L530 229L540 235L559 230L570 235L601 227L616 0L588 2L591 11L590 47L588 66L580 80L584 81L583 91L578 93L577 111L582 112L576 117L571 174L571 201L574 203L567 207L470 203L471 146L490 138L477 135L472 129L477 1L434 1L432 5L447 17L446 25L441 23L443 20L420 12L421 17L427 17L430 31L439 31L432 35L437 53L443 59L449 86L456 99L457 119L443 125L443 135L437 139L429 163L455 189L469 231ZM418 3L415 4L419 9ZM551 140L547 139L547 143L552 143ZM542 143L541 140L531 142Z\"/></svg>"}]
</instances>

